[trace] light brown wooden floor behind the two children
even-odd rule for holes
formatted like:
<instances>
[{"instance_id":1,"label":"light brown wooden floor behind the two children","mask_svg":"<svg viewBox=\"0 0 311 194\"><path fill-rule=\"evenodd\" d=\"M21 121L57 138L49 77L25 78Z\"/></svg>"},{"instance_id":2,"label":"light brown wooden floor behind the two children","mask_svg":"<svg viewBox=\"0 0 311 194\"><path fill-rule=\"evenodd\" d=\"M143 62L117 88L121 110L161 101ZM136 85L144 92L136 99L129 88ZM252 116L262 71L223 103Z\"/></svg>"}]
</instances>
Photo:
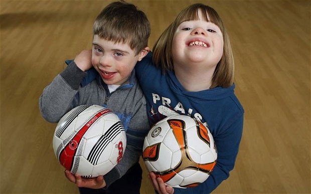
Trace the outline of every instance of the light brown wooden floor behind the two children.
<instances>
[{"instance_id":1,"label":"light brown wooden floor behind the two children","mask_svg":"<svg viewBox=\"0 0 311 194\"><path fill-rule=\"evenodd\" d=\"M310 1L129 1L151 23L149 46L192 3L222 17L245 109L236 166L214 193L310 193ZM43 88L91 48L110 1L1 0L1 193L78 193L58 164ZM152 193L144 178L141 193Z\"/></svg>"}]
</instances>

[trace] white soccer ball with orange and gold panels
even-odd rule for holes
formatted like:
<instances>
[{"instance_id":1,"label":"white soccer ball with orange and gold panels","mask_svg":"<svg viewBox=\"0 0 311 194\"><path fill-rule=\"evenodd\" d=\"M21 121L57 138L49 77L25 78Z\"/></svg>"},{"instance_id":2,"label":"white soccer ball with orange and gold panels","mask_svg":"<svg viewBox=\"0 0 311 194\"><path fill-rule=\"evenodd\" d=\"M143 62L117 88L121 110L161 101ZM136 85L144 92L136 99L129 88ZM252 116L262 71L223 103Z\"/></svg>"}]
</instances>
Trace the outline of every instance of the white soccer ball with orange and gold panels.
<instances>
[{"instance_id":1,"label":"white soccer ball with orange and gold panels","mask_svg":"<svg viewBox=\"0 0 311 194\"><path fill-rule=\"evenodd\" d=\"M167 185L194 187L213 171L217 149L209 129L200 121L171 116L151 127L144 139L143 160L148 171Z\"/></svg>"}]
</instances>

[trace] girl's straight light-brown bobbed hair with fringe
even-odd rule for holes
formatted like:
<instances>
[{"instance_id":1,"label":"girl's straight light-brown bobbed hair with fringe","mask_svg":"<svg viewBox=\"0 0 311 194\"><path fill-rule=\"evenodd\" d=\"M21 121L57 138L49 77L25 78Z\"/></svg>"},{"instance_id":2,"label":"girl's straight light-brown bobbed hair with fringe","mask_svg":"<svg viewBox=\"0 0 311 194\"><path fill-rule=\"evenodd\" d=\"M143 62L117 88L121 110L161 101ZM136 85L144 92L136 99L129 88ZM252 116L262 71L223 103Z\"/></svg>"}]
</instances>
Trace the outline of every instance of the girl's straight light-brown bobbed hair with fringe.
<instances>
[{"instance_id":1,"label":"girl's straight light-brown bobbed hair with fringe","mask_svg":"<svg viewBox=\"0 0 311 194\"><path fill-rule=\"evenodd\" d=\"M217 14L217 12L204 4L193 4L184 9L175 19L175 21L162 33L156 44L153 46L153 63L162 68L163 73L171 70L174 71L173 60L173 38L178 26L185 21L199 20L198 11L206 13L204 20L216 24L224 39L223 56L218 62L214 75L212 78L212 85L210 88L223 87L227 88L233 84L234 78L234 59L231 49L230 40L225 30L225 26ZM209 20L209 18L210 20Z\"/></svg>"}]
</instances>

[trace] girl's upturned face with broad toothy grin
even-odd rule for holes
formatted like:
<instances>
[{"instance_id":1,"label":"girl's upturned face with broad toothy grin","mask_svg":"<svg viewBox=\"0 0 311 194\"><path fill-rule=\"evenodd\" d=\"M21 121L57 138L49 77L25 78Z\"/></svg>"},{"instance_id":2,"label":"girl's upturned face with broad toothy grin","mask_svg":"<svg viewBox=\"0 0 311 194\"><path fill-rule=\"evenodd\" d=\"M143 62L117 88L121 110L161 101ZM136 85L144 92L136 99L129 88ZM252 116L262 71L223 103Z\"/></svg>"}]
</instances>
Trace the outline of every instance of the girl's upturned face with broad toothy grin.
<instances>
[{"instance_id":1,"label":"girl's upturned face with broad toothy grin","mask_svg":"<svg viewBox=\"0 0 311 194\"><path fill-rule=\"evenodd\" d=\"M175 32L172 45L174 68L184 64L188 69L215 69L223 55L224 41L219 27L205 21L200 10L198 14L199 20L182 22Z\"/></svg>"}]
</instances>

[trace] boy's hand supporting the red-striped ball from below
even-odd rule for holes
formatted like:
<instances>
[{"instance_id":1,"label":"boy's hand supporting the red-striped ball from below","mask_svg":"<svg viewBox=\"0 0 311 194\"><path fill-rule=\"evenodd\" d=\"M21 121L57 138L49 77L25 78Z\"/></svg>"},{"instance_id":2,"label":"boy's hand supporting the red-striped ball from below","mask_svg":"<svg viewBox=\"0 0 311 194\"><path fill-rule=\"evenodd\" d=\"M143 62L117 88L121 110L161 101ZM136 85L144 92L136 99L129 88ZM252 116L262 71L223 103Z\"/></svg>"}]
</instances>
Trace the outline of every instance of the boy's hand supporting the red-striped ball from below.
<instances>
[{"instance_id":1,"label":"boy's hand supporting the red-striped ball from below","mask_svg":"<svg viewBox=\"0 0 311 194\"><path fill-rule=\"evenodd\" d=\"M67 169L65 170L65 176L78 187L98 189L106 186L103 176L97 176L96 178L82 178L79 174L72 174Z\"/></svg>"}]
</instances>

